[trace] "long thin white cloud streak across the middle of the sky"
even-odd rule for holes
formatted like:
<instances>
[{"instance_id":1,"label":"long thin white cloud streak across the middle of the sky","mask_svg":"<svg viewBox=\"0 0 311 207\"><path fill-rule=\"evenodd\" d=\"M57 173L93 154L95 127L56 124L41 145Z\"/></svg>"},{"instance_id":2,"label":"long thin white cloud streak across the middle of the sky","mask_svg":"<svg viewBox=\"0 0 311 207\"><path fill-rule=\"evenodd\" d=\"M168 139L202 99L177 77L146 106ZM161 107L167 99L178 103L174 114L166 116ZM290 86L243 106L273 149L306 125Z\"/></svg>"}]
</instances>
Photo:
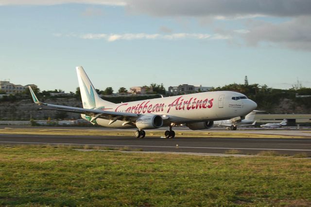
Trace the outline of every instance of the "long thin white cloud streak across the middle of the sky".
<instances>
[{"instance_id":1,"label":"long thin white cloud streak across the middle of the sky","mask_svg":"<svg viewBox=\"0 0 311 207\"><path fill-rule=\"evenodd\" d=\"M166 40L177 40L177 39L228 39L230 36L223 36L220 34L209 35L202 33L173 33L169 35L162 34L146 34L146 33L125 33L125 34L84 34L84 35L63 35L53 34L55 37L79 37L83 39L104 39L109 42L117 40L139 40L139 39L166 39Z\"/></svg>"}]
</instances>

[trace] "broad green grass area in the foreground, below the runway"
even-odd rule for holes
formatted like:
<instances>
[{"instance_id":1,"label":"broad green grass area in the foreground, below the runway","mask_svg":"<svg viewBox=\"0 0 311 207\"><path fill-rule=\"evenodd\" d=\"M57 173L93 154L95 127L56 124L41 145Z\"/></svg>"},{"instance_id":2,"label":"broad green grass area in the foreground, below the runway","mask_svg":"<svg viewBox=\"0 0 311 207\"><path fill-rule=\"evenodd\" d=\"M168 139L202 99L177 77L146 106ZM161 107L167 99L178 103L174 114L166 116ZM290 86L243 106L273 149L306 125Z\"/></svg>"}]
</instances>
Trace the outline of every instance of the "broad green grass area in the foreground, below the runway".
<instances>
[{"instance_id":1,"label":"broad green grass area in the foreground, below the runway","mask_svg":"<svg viewBox=\"0 0 311 207\"><path fill-rule=\"evenodd\" d=\"M311 159L0 147L0 206L311 206Z\"/></svg>"}]
</instances>

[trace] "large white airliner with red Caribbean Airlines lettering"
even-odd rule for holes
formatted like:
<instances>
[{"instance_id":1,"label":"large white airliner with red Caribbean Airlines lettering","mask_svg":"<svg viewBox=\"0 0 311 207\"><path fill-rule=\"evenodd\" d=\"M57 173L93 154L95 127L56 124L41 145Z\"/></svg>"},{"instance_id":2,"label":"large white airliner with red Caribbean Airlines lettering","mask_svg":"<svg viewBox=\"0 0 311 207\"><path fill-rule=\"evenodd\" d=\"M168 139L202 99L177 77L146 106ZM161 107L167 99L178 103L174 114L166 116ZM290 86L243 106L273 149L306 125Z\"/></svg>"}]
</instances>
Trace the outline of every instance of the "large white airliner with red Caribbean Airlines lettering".
<instances>
[{"instance_id":1,"label":"large white airliner with red Caribbean Airlines lettering","mask_svg":"<svg viewBox=\"0 0 311 207\"><path fill-rule=\"evenodd\" d=\"M40 109L80 113L92 124L118 129L137 129L136 138L144 138L144 130L169 127L166 138L174 138L173 127L185 124L191 130L210 129L214 121L243 116L257 108L245 95L231 91L203 92L161 97L126 103L102 99L84 69L76 67L83 108L42 103L29 87Z\"/></svg>"}]
</instances>

